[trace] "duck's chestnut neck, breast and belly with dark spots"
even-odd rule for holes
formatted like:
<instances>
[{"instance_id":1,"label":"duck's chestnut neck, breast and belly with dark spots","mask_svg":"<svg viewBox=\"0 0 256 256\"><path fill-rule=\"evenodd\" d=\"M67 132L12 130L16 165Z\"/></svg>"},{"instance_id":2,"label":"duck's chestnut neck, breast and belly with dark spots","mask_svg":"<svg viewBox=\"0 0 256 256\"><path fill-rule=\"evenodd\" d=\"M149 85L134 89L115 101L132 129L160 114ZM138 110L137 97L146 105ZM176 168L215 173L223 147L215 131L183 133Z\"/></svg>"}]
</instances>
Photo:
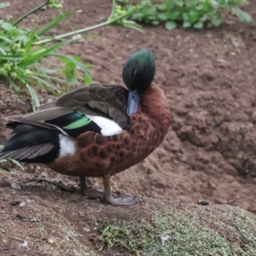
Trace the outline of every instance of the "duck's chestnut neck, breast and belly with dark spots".
<instances>
[{"instance_id":1,"label":"duck's chestnut neck, breast and belly with dark spots","mask_svg":"<svg viewBox=\"0 0 256 256\"><path fill-rule=\"evenodd\" d=\"M85 132L76 141L76 154L55 160L49 167L69 176L112 176L151 154L166 136L170 119L166 96L152 83L143 94L137 113L131 115L126 131L109 137Z\"/></svg>"}]
</instances>

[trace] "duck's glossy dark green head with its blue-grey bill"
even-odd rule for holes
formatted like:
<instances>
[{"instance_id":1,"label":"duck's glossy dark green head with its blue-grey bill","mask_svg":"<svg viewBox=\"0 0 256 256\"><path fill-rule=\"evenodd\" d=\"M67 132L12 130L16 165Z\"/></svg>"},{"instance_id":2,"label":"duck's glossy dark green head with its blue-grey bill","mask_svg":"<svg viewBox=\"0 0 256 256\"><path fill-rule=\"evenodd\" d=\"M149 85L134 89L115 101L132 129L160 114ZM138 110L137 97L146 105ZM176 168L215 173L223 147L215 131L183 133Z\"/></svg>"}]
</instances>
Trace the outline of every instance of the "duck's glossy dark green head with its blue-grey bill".
<instances>
[{"instance_id":1,"label":"duck's glossy dark green head with its blue-grey bill","mask_svg":"<svg viewBox=\"0 0 256 256\"><path fill-rule=\"evenodd\" d=\"M152 83L155 73L154 54L148 49L141 49L125 62L123 79L130 90L127 102L127 114L137 112L140 97Z\"/></svg>"}]
</instances>

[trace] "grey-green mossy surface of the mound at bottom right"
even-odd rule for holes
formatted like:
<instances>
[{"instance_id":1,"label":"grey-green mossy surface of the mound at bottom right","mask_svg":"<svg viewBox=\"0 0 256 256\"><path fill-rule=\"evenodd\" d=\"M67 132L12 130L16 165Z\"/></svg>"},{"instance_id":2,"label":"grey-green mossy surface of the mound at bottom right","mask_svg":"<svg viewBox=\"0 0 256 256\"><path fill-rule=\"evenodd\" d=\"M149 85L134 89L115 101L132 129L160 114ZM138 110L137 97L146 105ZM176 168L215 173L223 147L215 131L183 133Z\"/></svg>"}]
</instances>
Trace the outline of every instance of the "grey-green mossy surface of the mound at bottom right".
<instances>
[{"instance_id":1,"label":"grey-green mossy surface of the mound at bottom right","mask_svg":"<svg viewBox=\"0 0 256 256\"><path fill-rule=\"evenodd\" d=\"M227 206L208 209L201 214L200 208L165 207L150 212L150 218L103 223L99 240L102 247L135 255L256 255L252 214Z\"/></svg>"}]
</instances>

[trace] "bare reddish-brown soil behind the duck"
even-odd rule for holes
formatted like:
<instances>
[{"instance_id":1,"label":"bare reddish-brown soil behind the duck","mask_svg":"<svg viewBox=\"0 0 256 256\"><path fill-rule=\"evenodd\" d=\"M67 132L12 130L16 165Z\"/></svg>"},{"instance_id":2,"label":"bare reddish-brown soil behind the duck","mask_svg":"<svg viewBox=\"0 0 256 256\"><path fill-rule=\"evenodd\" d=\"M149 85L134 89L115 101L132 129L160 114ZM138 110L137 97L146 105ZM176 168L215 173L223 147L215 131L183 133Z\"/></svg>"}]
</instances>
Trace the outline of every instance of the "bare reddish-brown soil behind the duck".
<instances>
[{"instance_id":1,"label":"bare reddish-brown soil behind the duck","mask_svg":"<svg viewBox=\"0 0 256 256\"><path fill-rule=\"evenodd\" d=\"M4 15L17 17L42 1L9 2L11 6ZM65 1L65 9L83 10L70 18L71 24L79 29L106 20L111 2L100 1L97 7L95 4ZM154 82L166 91L172 107L172 127L146 160L112 178L114 190L180 202L206 198L256 213L256 5L251 1L246 10L253 15L253 23L242 24L227 14L218 28L168 32L161 26L145 27L147 36L122 27L104 27L90 33L101 38L88 38L64 49L67 54L80 55L85 63L93 64L94 79L104 84L122 84L122 65L138 49L151 49L156 56ZM38 12L26 20L26 26L35 24L37 16L44 23L54 15L51 10ZM62 24L52 34L67 30L68 26ZM53 97L44 93L41 100L47 102ZM0 144L9 137L3 117L28 111L31 107L27 96L16 98L11 90L1 86ZM9 168L24 172L13 165ZM42 172L64 182L73 180L44 166L31 165L26 166L26 175L12 181L25 187L29 177ZM9 186L9 174L0 175L0 186ZM102 186L99 179L93 182ZM36 189L29 193L32 195ZM53 196L51 191L41 195L40 191L36 192L38 198L49 199L45 207L54 207L53 197L67 196ZM5 194L1 189L1 198L11 202L9 196L8 190ZM80 200L87 201L75 198L84 211Z\"/></svg>"}]
</instances>

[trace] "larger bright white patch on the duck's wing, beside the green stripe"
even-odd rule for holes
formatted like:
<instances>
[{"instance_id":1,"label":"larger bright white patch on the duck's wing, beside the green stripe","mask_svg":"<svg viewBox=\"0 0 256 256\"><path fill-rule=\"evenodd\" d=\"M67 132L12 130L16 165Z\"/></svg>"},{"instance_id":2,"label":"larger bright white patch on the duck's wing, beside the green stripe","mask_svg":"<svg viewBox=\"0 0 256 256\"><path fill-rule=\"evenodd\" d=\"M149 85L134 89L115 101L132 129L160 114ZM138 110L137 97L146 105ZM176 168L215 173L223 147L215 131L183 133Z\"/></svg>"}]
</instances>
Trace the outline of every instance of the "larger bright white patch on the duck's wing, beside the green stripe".
<instances>
[{"instance_id":1,"label":"larger bright white patch on the duck's wing, beside the green stripe","mask_svg":"<svg viewBox=\"0 0 256 256\"><path fill-rule=\"evenodd\" d=\"M96 123L100 128L102 128L102 135L104 136L112 136L120 131L123 131L123 129L115 123L113 120L105 119L101 116L93 116L93 115L87 115L92 121Z\"/></svg>"}]
</instances>

